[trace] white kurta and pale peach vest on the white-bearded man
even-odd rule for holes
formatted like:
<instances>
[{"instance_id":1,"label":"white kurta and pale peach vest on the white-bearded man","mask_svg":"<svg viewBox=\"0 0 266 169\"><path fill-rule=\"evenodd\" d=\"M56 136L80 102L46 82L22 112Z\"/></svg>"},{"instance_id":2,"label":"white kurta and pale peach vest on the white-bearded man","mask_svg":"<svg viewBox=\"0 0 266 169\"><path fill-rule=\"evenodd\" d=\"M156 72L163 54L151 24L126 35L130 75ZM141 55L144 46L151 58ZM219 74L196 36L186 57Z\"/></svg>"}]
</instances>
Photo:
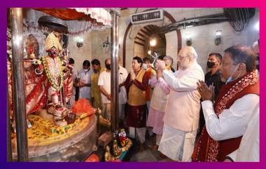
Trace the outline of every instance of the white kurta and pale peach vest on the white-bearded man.
<instances>
[{"instance_id":1,"label":"white kurta and pale peach vest on the white-bearded man","mask_svg":"<svg viewBox=\"0 0 266 169\"><path fill-rule=\"evenodd\" d=\"M174 74L165 69L162 76L171 88L163 121L178 130L197 130L200 118L197 81L204 81L202 67L194 62L187 69L179 69Z\"/></svg>"}]
</instances>

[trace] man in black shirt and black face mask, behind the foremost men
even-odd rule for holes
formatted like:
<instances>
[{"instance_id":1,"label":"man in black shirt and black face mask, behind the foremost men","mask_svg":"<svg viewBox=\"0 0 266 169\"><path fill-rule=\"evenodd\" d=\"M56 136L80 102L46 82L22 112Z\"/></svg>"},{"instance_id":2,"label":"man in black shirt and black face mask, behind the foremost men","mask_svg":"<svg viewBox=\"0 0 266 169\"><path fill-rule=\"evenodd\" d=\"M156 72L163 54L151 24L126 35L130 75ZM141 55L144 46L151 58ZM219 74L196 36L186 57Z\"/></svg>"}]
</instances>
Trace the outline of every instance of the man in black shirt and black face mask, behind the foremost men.
<instances>
[{"instance_id":1,"label":"man in black shirt and black face mask, behind the foremost men","mask_svg":"<svg viewBox=\"0 0 266 169\"><path fill-rule=\"evenodd\" d=\"M210 53L207 67L210 69L210 72L205 74L205 83L207 86L214 86L214 100L218 96L220 88L225 84L221 80L221 72L220 72L220 65L221 65L222 55L220 53ZM205 124L204 115L202 109L200 109L200 131L202 130Z\"/></svg>"}]
</instances>

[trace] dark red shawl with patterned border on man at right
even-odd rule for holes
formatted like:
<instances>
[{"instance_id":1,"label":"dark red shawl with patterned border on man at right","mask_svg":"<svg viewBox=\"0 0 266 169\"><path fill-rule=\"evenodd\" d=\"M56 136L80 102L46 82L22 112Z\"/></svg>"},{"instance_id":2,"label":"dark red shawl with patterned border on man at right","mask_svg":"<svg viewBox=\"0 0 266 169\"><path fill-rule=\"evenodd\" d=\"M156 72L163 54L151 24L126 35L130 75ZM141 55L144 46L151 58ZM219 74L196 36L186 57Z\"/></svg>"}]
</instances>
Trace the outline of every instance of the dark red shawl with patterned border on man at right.
<instances>
[{"instance_id":1,"label":"dark red shawl with patterned border on man at right","mask_svg":"<svg viewBox=\"0 0 266 169\"><path fill-rule=\"evenodd\" d=\"M224 109L229 109L235 100L248 94L259 95L259 81L256 70L227 83L221 88L214 104L216 115L219 116ZM241 137L221 141L213 140L207 133L206 126L204 126L200 138L195 144L193 161L224 161L225 156L238 149L240 142Z\"/></svg>"}]
</instances>

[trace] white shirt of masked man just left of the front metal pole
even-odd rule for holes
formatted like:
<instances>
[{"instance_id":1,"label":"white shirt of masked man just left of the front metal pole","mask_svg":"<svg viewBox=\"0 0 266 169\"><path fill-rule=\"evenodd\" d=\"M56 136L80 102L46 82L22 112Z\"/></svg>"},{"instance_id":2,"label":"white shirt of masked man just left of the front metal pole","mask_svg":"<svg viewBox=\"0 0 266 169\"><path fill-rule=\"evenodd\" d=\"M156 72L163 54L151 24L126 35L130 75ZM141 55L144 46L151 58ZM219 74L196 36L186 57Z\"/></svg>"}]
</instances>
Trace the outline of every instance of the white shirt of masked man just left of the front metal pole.
<instances>
[{"instance_id":1,"label":"white shirt of masked man just left of the front metal pole","mask_svg":"<svg viewBox=\"0 0 266 169\"><path fill-rule=\"evenodd\" d=\"M111 72L102 72L99 74L98 85L103 86L107 93L111 94ZM108 100L107 97L101 92L102 103L110 103L111 100Z\"/></svg>"}]
</instances>

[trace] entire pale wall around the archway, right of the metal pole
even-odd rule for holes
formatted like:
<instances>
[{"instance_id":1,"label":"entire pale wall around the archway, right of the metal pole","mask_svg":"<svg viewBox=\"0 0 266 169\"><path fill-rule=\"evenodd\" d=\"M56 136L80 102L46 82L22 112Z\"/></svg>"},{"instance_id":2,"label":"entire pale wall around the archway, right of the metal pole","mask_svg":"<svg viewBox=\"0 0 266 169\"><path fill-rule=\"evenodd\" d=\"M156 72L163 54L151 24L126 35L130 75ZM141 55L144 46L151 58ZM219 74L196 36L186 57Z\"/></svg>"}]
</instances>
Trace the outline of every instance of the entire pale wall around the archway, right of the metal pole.
<instances>
[{"instance_id":1,"label":"entire pale wall around the archway, right of the metal pole","mask_svg":"<svg viewBox=\"0 0 266 169\"><path fill-rule=\"evenodd\" d=\"M147 8L139 8L137 12L146 10ZM134 13L136 8L132 8L129 11L121 12L120 18L120 50L119 55L123 56L123 37L125 34L125 29L130 23L130 18L128 17L130 13ZM193 18L202 15L211 15L215 13L222 13L223 8L164 8L165 11L170 13L176 21L182 20L183 18ZM191 38L193 39L193 47L197 50L199 55L198 62L204 69L204 72L207 72L206 62L207 55L211 52L219 52L223 54L223 50L229 46L236 44L245 44L251 46L255 40L258 40L258 30L255 29L255 23L258 22L258 11L256 11L255 17L252 18L249 22L248 27L242 32L234 32L229 22L222 22L212 25L203 25L199 27L190 27L187 29L181 29L182 36L182 46L186 46L186 34L190 33ZM141 27L146 25L158 25L161 26L162 22L150 22L148 24L133 25L132 30L127 35L126 43L126 68L130 69L130 63L134 57L134 38L139 32ZM164 25L169 24L169 20L165 19ZM216 37L216 30L222 30L222 42L220 45L214 45L214 39ZM176 68L176 58L177 58L177 38L176 32L169 32L165 34L167 39L167 55L171 55L174 58L174 68ZM139 47L137 47L139 48Z\"/></svg>"}]
</instances>

